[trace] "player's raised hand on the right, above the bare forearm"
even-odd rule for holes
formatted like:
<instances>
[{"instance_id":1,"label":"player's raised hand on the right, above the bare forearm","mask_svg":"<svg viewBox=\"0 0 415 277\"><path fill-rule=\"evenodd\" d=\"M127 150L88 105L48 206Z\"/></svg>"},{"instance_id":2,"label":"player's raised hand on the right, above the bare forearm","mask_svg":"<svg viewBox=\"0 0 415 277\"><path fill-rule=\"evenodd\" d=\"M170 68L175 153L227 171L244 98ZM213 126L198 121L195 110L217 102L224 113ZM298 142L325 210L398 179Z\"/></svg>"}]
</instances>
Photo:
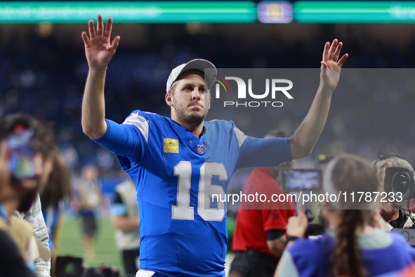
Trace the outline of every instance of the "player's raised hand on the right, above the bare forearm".
<instances>
[{"instance_id":1,"label":"player's raised hand on the right, above the bare forearm","mask_svg":"<svg viewBox=\"0 0 415 277\"><path fill-rule=\"evenodd\" d=\"M342 46L343 43L338 42L337 39L334 39L331 46L329 42L326 42L324 45L320 86L322 86L323 91L329 91L330 94L336 89L338 79L340 78L341 66L349 56L345 54L340 60L338 59Z\"/></svg>"}]
</instances>

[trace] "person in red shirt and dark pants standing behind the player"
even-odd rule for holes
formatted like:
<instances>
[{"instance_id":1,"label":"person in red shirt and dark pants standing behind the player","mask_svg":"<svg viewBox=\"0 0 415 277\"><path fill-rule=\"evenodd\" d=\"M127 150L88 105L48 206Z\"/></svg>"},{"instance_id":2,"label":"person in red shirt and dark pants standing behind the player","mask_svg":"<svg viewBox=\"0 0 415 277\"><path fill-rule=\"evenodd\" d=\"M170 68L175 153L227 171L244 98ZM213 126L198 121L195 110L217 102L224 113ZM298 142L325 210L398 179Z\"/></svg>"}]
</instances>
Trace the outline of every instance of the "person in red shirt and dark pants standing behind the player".
<instances>
[{"instance_id":1,"label":"person in red shirt and dark pants standing behind the player","mask_svg":"<svg viewBox=\"0 0 415 277\"><path fill-rule=\"evenodd\" d=\"M284 131L273 129L264 139L287 138ZM280 167L291 168L293 162ZM272 195L284 193L277 183L279 167L254 168L243 189L245 195ZM275 205L277 204L277 205ZM289 217L296 213L294 202L253 205L242 202L237 214L232 250L236 252L230 267L230 277L272 277L285 247L285 230ZM278 206L278 207L277 207ZM277 209L277 210L276 210Z\"/></svg>"}]
</instances>

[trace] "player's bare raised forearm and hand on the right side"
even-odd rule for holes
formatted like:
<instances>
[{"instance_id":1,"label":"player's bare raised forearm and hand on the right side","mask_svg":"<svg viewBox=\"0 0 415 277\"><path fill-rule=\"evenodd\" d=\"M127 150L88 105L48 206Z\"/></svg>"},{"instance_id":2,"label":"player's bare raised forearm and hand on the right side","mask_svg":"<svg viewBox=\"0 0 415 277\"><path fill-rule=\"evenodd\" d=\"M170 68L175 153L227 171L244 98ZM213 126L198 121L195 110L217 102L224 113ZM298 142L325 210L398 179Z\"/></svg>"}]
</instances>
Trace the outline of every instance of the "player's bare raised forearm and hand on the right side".
<instances>
[{"instance_id":1,"label":"player's bare raised forearm and hand on the right side","mask_svg":"<svg viewBox=\"0 0 415 277\"><path fill-rule=\"evenodd\" d=\"M340 77L341 66L348 58L345 54L338 59L343 44L334 39L330 46L329 42L324 45L322 70L320 72L320 86L312 101L311 108L303 122L291 136L291 155L293 160L306 157L311 154L317 139L322 134L329 113L331 95L336 89Z\"/></svg>"}]
</instances>

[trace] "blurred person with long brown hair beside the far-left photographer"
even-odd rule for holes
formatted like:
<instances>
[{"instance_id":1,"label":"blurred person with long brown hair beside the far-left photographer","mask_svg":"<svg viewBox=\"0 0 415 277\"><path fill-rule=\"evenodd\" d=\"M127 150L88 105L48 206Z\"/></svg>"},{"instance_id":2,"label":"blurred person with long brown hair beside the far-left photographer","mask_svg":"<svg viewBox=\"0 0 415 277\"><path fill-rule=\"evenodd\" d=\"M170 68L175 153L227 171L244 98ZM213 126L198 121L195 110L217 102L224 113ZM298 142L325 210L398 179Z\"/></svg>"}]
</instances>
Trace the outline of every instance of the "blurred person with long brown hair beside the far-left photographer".
<instances>
[{"instance_id":1,"label":"blurred person with long brown hair beside the far-left photographer","mask_svg":"<svg viewBox=\"0 0 415 277\"><path fill-rule=\"evenodd\" d=\"M53 252L52 274L55 259L60 250L65 200L72 197L72 176L58 148L53 150L53 170L41 194L41 212L49 235L49 247Z\"/></svg>"}]
</instances>

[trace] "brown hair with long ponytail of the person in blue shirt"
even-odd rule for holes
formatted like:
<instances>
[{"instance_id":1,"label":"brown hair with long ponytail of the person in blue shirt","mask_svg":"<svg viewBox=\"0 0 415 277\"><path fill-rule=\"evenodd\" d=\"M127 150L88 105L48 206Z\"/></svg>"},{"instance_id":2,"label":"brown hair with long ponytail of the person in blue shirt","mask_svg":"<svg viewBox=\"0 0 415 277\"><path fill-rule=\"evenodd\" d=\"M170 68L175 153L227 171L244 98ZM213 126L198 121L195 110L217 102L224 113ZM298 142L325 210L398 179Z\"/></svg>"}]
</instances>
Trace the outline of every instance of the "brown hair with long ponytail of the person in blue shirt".
<instances>
[{"instance_id":1,"label":"brown hair with long ponytail of the person in blue shirt","mask_svg":"<svg viewBox=\"0 0 415 277\"><path fill-rule=\"evenodd\" d=\"M332 162L331 183L337 191L352 193L377 190L376 171L369 160L356 155L341 155ZM329 167L329 165L327 165ZM341 219L336 228L336 246L333 253L334 276L367 276L362 261L362 252L355 235L358 228L369 225L371 210L348 210L347 203L336 213ZM350 208L350 207L349 207Z\"/></svg>"}]
</instances>

